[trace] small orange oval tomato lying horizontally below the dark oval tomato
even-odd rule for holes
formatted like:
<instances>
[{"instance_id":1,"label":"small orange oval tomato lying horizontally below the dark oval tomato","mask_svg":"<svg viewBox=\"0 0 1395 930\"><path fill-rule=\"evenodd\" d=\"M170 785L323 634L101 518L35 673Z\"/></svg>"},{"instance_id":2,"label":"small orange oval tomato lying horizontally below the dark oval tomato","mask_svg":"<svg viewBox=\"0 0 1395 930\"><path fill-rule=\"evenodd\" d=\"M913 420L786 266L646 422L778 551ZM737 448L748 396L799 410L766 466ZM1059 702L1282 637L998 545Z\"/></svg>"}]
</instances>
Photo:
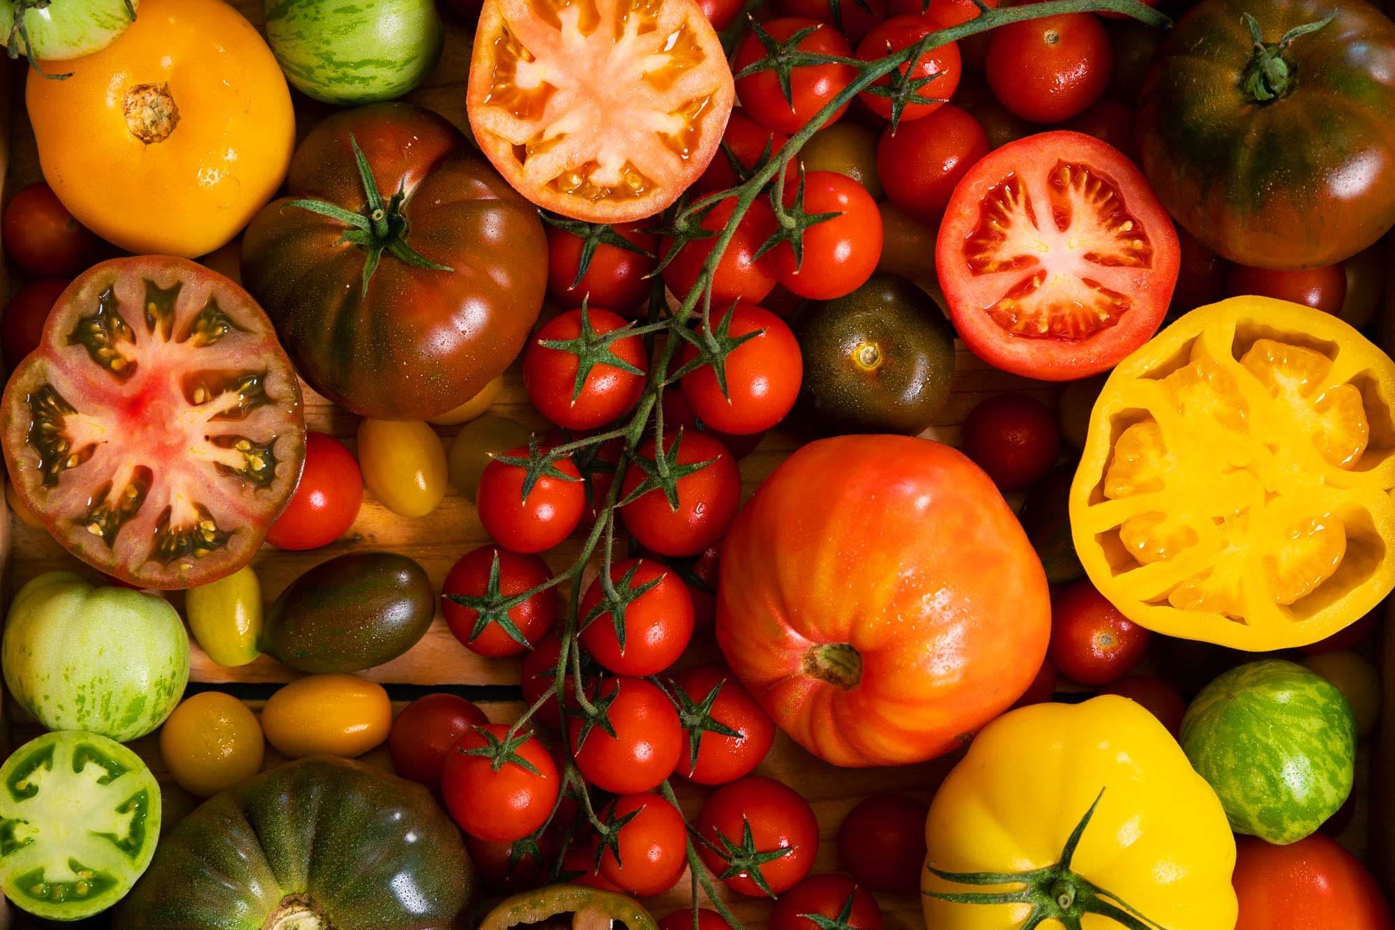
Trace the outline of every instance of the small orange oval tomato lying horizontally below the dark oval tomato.
<instances>
[{"instance_id":1,"label":"small orange oval tomato lying horizontally below the dark oval tomato","mask_svg":"<svg viewBox=\"0 0 1395 930\"><path fill-rule=\"evenodd\" d=\"M289 758L363 755L388 739L392 701L381 684L352 674L311 674L262 708L266 741Z\"/></svg>"}]
</instances>

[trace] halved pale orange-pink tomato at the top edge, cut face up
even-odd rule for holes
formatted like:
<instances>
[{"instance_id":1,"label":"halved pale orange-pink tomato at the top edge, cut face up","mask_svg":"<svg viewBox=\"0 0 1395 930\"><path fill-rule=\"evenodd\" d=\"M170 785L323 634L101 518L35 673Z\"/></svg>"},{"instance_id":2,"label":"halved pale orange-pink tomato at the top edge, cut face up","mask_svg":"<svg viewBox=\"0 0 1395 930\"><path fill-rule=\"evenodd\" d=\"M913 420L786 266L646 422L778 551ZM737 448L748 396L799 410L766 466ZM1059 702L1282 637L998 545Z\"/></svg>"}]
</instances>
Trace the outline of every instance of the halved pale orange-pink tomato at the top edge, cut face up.
<instances>
[{"instance_id":1,"label":"halved pale orange-pink tomato at the top edge, cut face up","mask_svg":"<svg viewBox=\"0 0 1395 930\"><path fill-rule=\"evenodd\" d=\"M660 212L706 170L735 88L696 0L487 0L474 140L538 207L590 222Z\"/></svg>"}]
</instances>

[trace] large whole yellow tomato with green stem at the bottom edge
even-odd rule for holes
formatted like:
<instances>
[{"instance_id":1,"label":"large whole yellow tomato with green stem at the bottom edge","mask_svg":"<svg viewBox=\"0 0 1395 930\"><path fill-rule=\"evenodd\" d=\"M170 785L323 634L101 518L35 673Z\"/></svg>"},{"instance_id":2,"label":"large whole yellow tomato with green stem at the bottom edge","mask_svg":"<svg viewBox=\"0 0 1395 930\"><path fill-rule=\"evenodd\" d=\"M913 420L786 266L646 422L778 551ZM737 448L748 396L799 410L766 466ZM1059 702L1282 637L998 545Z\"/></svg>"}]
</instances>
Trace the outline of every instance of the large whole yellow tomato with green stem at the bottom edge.
<instances>
[{"instance_id":1,"label":"large whole yellow tomato with green stem at the bottom edge","mask_svg":"<svg viewBox=\"0 0 1395 930\"><path fill-rule=\"evenodd\" d=\"M925 821L929 930L1235 930L1235 836L1141 705L1034 704L974 739Z\"/></svg>"}]
</instances>

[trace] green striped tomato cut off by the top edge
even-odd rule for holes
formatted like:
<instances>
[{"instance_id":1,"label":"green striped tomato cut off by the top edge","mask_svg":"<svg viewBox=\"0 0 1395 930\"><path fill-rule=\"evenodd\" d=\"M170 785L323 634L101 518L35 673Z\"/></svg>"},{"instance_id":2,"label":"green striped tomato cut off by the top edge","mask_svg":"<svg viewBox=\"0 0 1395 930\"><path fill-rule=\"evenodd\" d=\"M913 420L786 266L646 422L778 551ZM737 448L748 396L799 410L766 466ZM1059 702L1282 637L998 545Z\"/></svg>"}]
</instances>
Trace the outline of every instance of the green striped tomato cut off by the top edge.
<instances>
[{"instance_id":1,"label":"green striped tomato cut off by the top edge","mask_svg":"<svg viewBox=\"0 0 1395 930\"><path fill-rule=\"evenodd\" d=\"M266 40L297 89L353 106L421 84L445 31L434 0L266 0Z\"/></svg>"}]
</instances>

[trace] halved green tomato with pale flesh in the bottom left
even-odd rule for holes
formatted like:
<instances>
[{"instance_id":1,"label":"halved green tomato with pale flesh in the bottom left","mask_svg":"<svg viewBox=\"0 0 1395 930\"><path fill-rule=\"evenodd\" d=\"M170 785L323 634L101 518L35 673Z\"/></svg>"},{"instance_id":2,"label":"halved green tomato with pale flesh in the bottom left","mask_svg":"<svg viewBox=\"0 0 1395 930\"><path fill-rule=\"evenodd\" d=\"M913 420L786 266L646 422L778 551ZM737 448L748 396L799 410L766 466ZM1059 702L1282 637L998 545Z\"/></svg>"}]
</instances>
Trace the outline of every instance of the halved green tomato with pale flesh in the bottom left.
<instances>
[{"instance_id":1,"label":"halved green tomato with pale flesh in the bottom left","mask_svg":"<svg viewBox=\"0 0 1395 930\"><path fill-rule=\"evenodd\" d=\"M160 786L114 740L45 733L0 765L0 888L52 920L81 920L126 896L155 856Z\"/></svg>"}]
</instances>

